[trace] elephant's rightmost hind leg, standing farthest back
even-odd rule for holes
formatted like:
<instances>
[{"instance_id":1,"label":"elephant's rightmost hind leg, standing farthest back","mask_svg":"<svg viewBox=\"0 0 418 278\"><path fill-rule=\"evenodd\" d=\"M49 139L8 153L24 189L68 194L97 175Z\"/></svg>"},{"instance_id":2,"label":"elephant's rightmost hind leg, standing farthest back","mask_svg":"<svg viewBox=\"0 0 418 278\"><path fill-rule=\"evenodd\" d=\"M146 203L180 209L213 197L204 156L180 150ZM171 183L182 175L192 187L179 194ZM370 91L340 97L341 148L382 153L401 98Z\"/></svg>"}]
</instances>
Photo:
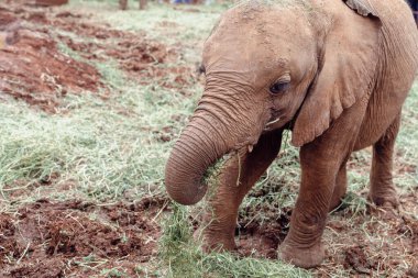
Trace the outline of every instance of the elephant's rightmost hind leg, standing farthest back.
<instances>
[{"instance_id":1,"label":"elephant's rightmost hind leg, standing farthest back","mask_svg":"<svg viewBox=\"0 0 418 278\"><path fill-rule=\"evenodd\" d=\"M399 200L392 179L395 140L399 131L400 114L383 136L373 145L371 189L369 199L377 205L397 208Z\"/></svg>"}]
</instances>

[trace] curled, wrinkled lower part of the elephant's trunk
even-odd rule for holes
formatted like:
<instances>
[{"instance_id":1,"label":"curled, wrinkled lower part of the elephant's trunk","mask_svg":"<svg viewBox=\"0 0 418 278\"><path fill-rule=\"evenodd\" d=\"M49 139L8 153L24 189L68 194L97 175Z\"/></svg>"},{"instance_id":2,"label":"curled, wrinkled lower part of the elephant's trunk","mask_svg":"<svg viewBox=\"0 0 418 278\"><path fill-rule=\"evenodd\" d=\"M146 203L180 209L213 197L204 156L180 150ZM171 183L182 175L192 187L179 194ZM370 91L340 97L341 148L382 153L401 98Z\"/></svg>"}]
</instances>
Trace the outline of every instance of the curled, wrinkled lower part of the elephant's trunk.
<instances>
[{"instance_id":1,"label":"curled, wrinkled lower part of the elephant's trunk","mask_svg":"<svg viewBox=\"0 0 418 278\"><path fill-rule=\"evenodd\" d=\"M223 138L213 138L213 134L219 133L209 121L195 115L169 155L165 186L169 197L178 203L195 204L204 198L205 173L231 148Z\"/></svg>"}]
</instances>

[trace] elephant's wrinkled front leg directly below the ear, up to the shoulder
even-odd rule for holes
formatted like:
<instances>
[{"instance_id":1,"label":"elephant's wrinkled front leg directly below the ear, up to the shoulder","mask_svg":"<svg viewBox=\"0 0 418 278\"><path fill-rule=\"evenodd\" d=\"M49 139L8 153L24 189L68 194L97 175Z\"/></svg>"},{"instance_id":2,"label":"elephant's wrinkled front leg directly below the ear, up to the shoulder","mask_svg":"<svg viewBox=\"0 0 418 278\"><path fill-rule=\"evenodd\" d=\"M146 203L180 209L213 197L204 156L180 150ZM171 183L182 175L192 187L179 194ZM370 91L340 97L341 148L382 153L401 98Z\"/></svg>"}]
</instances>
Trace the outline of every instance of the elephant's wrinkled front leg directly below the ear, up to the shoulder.
<instances>
[{"instance_id":1,"label":"elephant's wrinkled front leg directly below the ear, up to the shoulder","mask_svg":"<svg viewBox=\"0 0 418 278\"><path fill-rule=\"evenodd\" d=\"M300 189L289 232L279 246L283 260L304 268L318 266L323 260L321 237L328 212L345 192L345 163L353 151L364 112L363 105L346 110L320 137L301 146Z\"/></svg>"}]
</instances>

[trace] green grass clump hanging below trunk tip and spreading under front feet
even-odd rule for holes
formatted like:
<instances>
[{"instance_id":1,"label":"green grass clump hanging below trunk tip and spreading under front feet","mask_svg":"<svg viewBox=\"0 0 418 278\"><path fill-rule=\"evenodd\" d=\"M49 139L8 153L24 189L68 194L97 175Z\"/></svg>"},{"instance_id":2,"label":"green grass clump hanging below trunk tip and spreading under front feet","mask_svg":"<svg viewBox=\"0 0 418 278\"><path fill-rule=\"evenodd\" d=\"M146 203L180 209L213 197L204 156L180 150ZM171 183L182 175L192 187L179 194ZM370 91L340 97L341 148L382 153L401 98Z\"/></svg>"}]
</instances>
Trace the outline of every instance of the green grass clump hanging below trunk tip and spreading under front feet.
<instances>
[{"instance_id":1,"label":"green grass clump hanging below trunk tip and spreading under front feet","mask_svg":"<svg viewBox=\"0 0 418 278\"><path fill-rule=\"evenodd\" d=\"M186 207L174 203L163 224L160 256L167 267L166 277L310 277L308 271L279 260L204 253L201 242L193 238L189 215Z\"/></svg>"}]
</instances>

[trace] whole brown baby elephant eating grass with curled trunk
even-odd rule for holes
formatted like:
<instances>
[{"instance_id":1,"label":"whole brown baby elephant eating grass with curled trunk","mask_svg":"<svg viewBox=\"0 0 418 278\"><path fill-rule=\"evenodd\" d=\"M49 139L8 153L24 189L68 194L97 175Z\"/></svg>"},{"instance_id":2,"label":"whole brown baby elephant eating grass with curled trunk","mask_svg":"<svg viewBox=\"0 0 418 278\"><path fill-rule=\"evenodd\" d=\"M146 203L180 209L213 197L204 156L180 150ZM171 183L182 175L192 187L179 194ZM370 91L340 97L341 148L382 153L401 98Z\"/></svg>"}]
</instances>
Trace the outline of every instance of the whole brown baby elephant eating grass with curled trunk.
<instances>
[{"instance_id":1,"label":"whole brown baby elephant eating grass with curled trunk","mask_svg":"<svg viewBox=\"0 0 418 278\"><path fill-rule=\"evenodd\" d=\"M345 194L352 152L373 145L369 198L396 208L394 144L417 43L404 0L252 0L227 11L205 43L205 92L165 171L173 200L194 204L207 169L235 153L210 198L206 247L235 248L239 205L277 156L284 130L300 147L301 181L282 259L322 262L327 213Z\"/></svg>"}]
</instances>

